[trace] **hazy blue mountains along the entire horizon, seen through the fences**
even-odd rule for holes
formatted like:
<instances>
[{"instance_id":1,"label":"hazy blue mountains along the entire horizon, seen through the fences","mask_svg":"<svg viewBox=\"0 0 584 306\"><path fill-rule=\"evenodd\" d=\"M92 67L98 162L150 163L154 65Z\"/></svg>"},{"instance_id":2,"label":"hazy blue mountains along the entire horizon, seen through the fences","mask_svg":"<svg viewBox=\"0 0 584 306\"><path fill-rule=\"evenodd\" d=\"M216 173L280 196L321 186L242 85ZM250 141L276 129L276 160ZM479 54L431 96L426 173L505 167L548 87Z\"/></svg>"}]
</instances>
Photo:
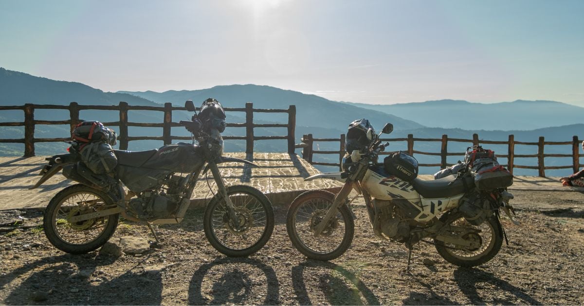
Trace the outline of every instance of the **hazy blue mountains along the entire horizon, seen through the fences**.
<instances>
[{"instance_id":1,"label":"hazy blue mountains along the entire horizon, seen through the fences","mask_svg":"<svg viewBox=\"0 0 584 306\"><path fill-rule=\"evenodd\" d=\"M303 94L291 90L282 90L270 86L230 85L215 86L203 90L171 90L164 93L156 92L103 92L76 82L64 82L40 78L22 72L8 71L0 68L0 105L61 104L68 105L71 101L79 104L117 105L126 101L130 105L154 105L171 102L174 105L184 105L185 100L193 100L197 105L208 97L214 97L225 107L243 107L245 102L253 102L254 108L287 109L294 104L297 107L296 142L305 133L312 133L315 138L339 138L340 133L346 133L347 125L360 118L369 119L377 129L385 122L394 124L394 132L389 138L402 138L412 133L416 138L440 138L442 134L450 138L471 139L472 133L478 133L480 139L507 140L507 135L514 134L519 141L536 142L538 136L544 136L548 141L568 141L573 135L584 139L584 108L554 101L513 101L510 103L480 104L467 101L440 100L423 103L407 103L394 105L370 105L360 103L345 103L326 100L311 94ZM391 112L391 114L387 114ZM36 110L36 119L64 120L69 118L68 111ZM229 122L245 122L245 115L239 112L228 112ZM117 121L117 111L81 111L82 119L97 119L99 121ZM255 113L255 123L286 123L286 114ZM162 122L161 112L130 111L128 117L132 122ZM187 119L186 111L173 112L175 121ZM0 121L22 121L22 111L0 111ZM550 127L554 126L555 127ZM430 127L433 126L433 127ZM114 127L114 129L117 129ZM488 130L488 131L484 131ZM530 131L526 131L530 130ZM131 136L160 136L162 129L130 127ZM68 136L68 125L37 125L35 135L39 138L57 138ZM256 135L285 135L284 128L256 128ZM0 138L23 138L22 127L0 127ZM186 136L182 128L173 128L172 135ZM224 135L245 135L243 128L228 128ZM386 137L386 136L384 136ZM130 142L130 150L146 150L161 146L158 140ZM470 143L449 143L449 152L463 152ZM65 145L61 143L37 143L37 154L61 153ZM286 140L262 140L255 143L257 152L283 152L286 150ZM0 155L15 156L23 152L23 145L0 143ZM226 151L244 150L245 141L226 142ZM338 150L339 143L319 143L315 150ZM489 145L500 154L506 154L506 146ZM391 150L405 150L404 143L392 143ZM423 152L440 152L437 142L416 142L415 150ZM300 150L297 150L299 153ZM534 154L537 148L517 145L516 154ZM571 153L571 146L546 146L546 153ZM419 156L421 163L437 163L436 156ZM315 160L338 161L338 156L319 155ZM450 163L457 157L449 157ZM506 161L503 160L503 163ZM530 165L537 163L536 159L517 161L517 164ZM571 159L546 158L548 165L570 164ZM322 170L334 170L321 167ZM433 173L437 169L422 168L422 173ZM519 171L519 169L518 169ZM517 174L537 174L530 170L520 170ZM533 172L533 171L532 171ZM556 170L548 174L564 175L569 170Z\"/></svg>"}]
</instances>

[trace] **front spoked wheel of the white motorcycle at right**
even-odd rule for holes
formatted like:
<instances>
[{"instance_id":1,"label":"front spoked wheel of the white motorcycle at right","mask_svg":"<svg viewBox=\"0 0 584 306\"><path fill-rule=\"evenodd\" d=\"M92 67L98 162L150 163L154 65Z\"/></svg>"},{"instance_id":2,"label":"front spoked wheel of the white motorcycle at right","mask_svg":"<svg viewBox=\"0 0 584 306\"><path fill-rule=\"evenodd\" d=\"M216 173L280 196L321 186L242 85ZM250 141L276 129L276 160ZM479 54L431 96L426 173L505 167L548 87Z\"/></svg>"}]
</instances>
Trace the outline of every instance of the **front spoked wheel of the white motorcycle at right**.
<instances>
[{"instance_id":1,"label":"front spoked wheel of the white motorcycle at right","mask_svg":"<svg viewBox=\"0 0 584 306\"><path fill-rule=\"evenodd\" d=\"M286 217L290 241L310 259L329 261L343 255L353 241L354 223L349 207L342 205L319 237L316 226L331 208L335 194L324 190L307 191L291 203Z\"/></svg>"}]
</instances>

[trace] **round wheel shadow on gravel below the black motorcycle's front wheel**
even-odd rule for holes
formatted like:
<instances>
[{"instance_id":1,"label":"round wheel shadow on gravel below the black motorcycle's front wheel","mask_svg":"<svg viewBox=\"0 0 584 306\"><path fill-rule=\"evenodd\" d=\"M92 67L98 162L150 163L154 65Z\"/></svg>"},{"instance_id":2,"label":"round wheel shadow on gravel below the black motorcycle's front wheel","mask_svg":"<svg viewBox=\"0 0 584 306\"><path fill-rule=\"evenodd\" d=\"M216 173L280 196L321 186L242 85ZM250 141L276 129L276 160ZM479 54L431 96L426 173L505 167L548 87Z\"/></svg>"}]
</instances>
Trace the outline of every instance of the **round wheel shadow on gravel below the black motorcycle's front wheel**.
<instances>
[{"instance_id":1,"label":"round wheel shadow on gravel below the black motorcycle's front wheel","mask_svg":"<svg viewBox=\"0 0 584 306\"><path fill-rule=\"evenodd\" d=\"M189 305L249 304L258 296L265 297L261 304L281 304L276 272L253 258L217 258L201 265L189 284Z\"/></svg>"}]
</instances>

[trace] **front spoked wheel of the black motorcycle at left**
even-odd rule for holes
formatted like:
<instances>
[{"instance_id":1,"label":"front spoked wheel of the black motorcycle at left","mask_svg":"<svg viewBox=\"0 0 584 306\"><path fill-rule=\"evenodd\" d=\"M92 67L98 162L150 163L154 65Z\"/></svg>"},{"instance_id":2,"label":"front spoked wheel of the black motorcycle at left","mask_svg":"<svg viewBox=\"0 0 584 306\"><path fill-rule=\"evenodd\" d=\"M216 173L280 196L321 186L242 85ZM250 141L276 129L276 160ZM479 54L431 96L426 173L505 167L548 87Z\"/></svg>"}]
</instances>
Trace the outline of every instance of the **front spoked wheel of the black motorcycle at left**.
<instances>
[{"instance_id":1,"label":"front spoked wheel of the black motorcycle at left","mask_svg":"<svg viewBox=\"0 0 584 306\"><path fill-rule=\"evenodd\" d=\"M215 195L205 209L203 228L217 251L231 257L249 256L262 248L274 230L272 203L253 187L227 187L238 220L231 220L225 201ZM236 223L239 223L239 227Z\"/></svg>"}]
</instances>

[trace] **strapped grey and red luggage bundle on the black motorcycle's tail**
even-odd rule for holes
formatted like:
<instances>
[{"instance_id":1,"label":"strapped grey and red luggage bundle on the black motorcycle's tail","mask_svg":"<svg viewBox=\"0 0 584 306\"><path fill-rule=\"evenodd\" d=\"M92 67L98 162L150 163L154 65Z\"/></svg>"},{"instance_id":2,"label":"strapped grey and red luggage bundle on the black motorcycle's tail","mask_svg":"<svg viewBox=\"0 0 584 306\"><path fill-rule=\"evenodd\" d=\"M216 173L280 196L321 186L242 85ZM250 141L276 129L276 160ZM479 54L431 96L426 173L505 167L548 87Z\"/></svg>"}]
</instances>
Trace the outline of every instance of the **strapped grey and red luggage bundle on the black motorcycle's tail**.
<instances>
[{"instance_id":1,"label":"strapped grey and red luggage bundle on the black motorcycle's tail","mask_svg":"<svg viewBox=\"0 0 584 306\"><path fill-rule=\"evenodd\" d=\"M75 149L81 161L95 174L106 174L117 166L112 146L116 145L116 132L99 121L83 121L71 132Z\"/></svg>"}]
</instances>

